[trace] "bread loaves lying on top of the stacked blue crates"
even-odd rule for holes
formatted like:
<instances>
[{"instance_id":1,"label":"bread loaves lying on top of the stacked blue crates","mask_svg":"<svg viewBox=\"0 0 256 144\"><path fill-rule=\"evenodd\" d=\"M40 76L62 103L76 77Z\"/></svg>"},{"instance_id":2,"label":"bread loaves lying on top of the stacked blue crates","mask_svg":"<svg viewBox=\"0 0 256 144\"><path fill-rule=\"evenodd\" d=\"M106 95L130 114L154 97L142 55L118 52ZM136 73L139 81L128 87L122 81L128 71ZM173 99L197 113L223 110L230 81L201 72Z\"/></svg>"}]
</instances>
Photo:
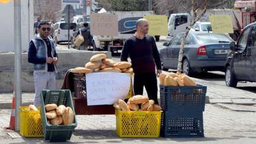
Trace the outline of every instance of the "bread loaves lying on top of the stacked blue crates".
<instances>
[{"instance_id":1,"label":"bread loaves lying on top of the stacked blue crates","mask_svg":"<svg viewBox=\"0 0 256 144\"><path fill-rule=\"evenodd\" d=\"M160 85L164 86L197 86L197 83L189 76L180 73L161 73Z\"/></svg>"}]
</instances>

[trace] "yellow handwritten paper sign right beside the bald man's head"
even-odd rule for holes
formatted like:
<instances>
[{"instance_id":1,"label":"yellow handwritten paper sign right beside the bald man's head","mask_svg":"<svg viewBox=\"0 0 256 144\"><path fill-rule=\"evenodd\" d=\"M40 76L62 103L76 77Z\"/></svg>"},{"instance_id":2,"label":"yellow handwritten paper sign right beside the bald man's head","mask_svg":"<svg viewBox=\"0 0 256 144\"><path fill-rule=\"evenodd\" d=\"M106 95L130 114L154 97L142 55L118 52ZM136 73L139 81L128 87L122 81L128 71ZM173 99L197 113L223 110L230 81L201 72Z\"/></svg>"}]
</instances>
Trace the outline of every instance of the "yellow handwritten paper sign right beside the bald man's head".
<instances>
[{"instance_id":1,"label":"yellow handwritten paper sign right beside the bald man's head","mask_svg":"<svg viewBox=\"0 0 256 144\"><path fill-rule=\"evenodd\" d=\"M149 21L150 35L168 35L168 18L162 15L145 15L143 16Z\"/></svg>"}]
</instances>

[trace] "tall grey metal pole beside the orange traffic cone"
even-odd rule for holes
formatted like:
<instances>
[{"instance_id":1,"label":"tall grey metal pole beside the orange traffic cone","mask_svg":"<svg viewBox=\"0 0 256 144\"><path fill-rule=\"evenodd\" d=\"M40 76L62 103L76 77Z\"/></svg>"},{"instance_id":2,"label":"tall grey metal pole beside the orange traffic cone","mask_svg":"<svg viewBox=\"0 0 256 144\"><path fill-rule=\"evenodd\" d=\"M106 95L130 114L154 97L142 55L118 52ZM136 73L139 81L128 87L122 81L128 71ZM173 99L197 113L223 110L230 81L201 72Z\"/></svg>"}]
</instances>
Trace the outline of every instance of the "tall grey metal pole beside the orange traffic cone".
<instances>
[{"instance_id":1,"label":"tall grey metal pole beside the orange traffic cone","mask_svg":"<svg viewBox=\"0 0 256 144\"><path fill-rule=\"evenodd\" d=\"M20 130L20 73L21 73L21 6L20 0L14 1L14 30L15 30L15 131Z\"/></svg>"}]
</instances>

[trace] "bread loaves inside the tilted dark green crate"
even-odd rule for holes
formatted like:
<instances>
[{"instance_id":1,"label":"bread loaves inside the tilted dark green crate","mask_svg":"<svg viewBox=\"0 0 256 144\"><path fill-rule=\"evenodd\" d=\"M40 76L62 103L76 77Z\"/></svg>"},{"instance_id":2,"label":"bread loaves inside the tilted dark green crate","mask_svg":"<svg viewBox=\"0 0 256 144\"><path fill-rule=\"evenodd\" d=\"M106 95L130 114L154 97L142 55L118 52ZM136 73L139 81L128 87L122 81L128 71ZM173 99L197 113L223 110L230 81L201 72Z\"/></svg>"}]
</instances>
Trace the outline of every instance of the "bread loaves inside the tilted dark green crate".
<instances>
[{"instance_id":1,"label":"bread loaves inside the tilted dark green crate","mask_svg":"<svg viewBox=\"0 0 256 144\"><path fill-rule=\"evenodd\" d=\"M65 105L47 104L46 105L47 121L53 125L71 124L74 122L75 114L71 107Z\"/></svg>"}]
</instances>

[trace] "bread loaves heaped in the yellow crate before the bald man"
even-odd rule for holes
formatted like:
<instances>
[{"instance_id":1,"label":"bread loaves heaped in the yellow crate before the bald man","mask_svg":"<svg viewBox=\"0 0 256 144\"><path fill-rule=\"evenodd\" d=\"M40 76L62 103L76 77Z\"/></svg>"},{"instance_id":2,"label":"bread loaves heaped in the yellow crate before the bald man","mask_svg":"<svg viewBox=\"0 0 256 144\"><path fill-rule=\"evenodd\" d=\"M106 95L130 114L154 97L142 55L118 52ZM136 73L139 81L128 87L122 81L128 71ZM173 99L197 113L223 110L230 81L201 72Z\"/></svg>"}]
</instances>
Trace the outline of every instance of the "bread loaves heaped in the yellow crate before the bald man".
<instances>
[{"instance_id":1,"label":"bread loaves heaped in the yellow crate before the bald man","mask_svg":"<svg viewBox=\"0 0 256 144\"><path fill-rule=\"evenodd\" d=\"M141 105L140 105L141 104ZM143 95L135 95L128 99L126 103L119 99L114 103L114 108L118 111L161 111L160 105L155 104L154 100L149 100L149 97Z\"/></svg>"}]
</instances>

